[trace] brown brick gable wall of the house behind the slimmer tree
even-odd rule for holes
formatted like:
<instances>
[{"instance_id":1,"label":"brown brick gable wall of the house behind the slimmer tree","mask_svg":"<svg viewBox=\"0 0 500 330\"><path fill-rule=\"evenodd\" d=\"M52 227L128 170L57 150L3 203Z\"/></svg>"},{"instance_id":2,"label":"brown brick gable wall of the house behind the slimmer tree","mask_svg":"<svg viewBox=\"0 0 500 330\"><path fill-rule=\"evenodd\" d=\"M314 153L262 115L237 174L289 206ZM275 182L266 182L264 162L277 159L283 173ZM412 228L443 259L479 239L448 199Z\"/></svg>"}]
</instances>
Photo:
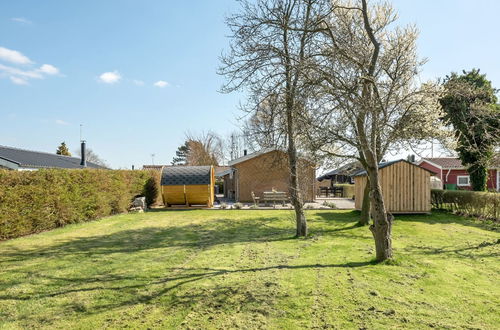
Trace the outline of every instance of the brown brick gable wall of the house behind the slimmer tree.
<instances>
[{"instance_id":1,"label":"brown brick gable wall of the house behind the slimmer tree","mask_svg":"<svg viewBox=\"0 0 500 330\"><path fill-rule=\"evenodd\" d=\"M236 199L252 202L255 196L264 197L264 191L286 191L289 193L290 172L285 153L272 151L233 165L236 169ZM299 185L305 201L313 201L316 191L316 169L308 161L299 160Z\"/></svg>"}]
</instances>

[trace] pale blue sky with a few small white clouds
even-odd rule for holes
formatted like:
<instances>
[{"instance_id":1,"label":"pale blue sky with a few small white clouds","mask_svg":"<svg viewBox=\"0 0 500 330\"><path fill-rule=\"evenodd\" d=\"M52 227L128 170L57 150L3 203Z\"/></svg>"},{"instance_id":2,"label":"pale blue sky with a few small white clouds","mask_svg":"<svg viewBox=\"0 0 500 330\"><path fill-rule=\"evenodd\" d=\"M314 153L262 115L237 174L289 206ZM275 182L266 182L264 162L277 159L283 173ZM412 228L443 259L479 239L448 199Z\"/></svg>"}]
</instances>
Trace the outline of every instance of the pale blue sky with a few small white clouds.
<instances>
[{"instance_id":1,"label":"pale blue sky with a few small white clouds","mask_svg":"<svg viewBox=\"0 0 500 330\"><path fill-rule=\"evenodd\" d=\"M393 0L416 24L421 80L480 68L500 88L497 0ZM169 164L185 134L237 130L222 94L235 0L0 1L0 145L88 147L113 168ZM406 155L404 155L406 156Z\"/></svg>"}]
</instances>

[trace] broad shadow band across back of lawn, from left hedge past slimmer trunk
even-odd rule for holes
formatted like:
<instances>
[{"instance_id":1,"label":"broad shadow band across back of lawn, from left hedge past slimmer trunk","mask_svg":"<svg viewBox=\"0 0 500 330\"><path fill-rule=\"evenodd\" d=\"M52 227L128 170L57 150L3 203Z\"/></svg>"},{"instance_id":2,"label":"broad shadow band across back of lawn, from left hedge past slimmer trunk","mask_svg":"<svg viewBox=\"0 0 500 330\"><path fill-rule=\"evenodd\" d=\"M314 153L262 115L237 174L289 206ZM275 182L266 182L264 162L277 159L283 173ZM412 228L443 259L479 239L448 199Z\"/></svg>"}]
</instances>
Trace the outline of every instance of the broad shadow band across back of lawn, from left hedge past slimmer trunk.
<instances>
[{"instance_id":1,"label":"broad shadow band across back of lawn, from left hedge past slimmer trunk","mask_svg":"<svg viewBox=\"0 0 500 330\"><path fill-rule=\"evenodd\" d=\"M332 237L366 238L350 232L356 224L345 226L345 218L337 214L320 213L323 220L313 220L310 226L314 236L331 235ZM339 219L339 220L337 220ZM29 250L6 247L2 251L0 264L23 260L64 257L73 255L103 255L113 253L136 253L145 250L163 248L210 248L212 246L248 242L276 242L293 240L293 225L288 225L278 217L259 217L234 220L231 218L213 219L202 223L173 225L167 227L145 227L121 230L111 234L74 237L56 241L50 246L35 247Z\"/></svg>"}]
</instances>

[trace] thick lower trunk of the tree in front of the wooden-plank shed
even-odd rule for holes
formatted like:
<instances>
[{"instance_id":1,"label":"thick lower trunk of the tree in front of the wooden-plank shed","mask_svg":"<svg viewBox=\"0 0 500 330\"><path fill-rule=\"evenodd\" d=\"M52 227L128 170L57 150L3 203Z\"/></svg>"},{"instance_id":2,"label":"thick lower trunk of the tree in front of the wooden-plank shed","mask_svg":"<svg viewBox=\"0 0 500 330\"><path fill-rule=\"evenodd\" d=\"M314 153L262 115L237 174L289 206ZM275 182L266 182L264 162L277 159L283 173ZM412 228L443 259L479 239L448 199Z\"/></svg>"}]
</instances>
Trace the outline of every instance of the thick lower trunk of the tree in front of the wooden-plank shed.
<instances>
[{"instance_id":1,"label":"thick lower trunk of the tree in front of the wooden-plank shed","mask_svg":"<svg viewBox=\"0 0 500 330\"><path fill-rule=\"evenodd\" d=\"M378 168L367 169L370 182L371 215L373 224L370 226L375 239L375 251L377 261L392 258L392 220L393 216L385 210L382 189L378 178Z\"/></svg>"}]
</instances>

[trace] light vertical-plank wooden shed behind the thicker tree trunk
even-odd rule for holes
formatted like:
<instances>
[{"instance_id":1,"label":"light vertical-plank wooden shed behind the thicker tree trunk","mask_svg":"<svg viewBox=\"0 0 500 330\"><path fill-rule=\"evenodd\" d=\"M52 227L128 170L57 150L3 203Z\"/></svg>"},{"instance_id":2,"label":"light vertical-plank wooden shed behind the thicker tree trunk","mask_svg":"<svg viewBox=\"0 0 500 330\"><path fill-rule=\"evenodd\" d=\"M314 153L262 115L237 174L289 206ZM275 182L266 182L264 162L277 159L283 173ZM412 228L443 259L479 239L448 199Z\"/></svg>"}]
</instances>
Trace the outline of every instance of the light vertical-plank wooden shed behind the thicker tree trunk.
<instances>
[{"instance_id":1,"label":"light vertical-plank wooden shed behind the thicker tree trunk","mask_svg":"<svg viewBox=\"0 0 500 330\"><path fill-rule=\"evenodd\" d=\"M404 159L379 165L380 185L387 210L391 213L428 213L431 211L431 175L425 168ZM355 207L361 210L366 172L354 176Z\"/></svg>"}]
</instances>

